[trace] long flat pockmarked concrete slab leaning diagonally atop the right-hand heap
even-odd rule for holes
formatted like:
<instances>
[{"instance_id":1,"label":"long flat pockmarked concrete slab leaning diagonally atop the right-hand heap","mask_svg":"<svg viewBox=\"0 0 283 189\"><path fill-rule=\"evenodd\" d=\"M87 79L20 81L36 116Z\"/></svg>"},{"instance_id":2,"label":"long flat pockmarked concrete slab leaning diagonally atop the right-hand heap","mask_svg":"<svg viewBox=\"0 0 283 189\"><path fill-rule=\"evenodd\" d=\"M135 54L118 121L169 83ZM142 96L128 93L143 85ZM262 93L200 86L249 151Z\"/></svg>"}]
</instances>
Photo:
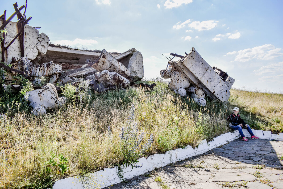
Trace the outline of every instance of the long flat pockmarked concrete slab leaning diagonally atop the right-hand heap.
<instances>
[{"instance_id":1,"label":"long flat pockmarked concrete slab leaning diagonally atop the right-hand heap","mask_svg":"<svg viewBox=\"0 0 283 189\"><path fill-rule=\"evenodd\" d=\"M230 88L194 48L186 57L169 63L211 98L225 102L230 97ZM231 87L231 83L229 86Z\"/></svg>"}]
</instances>

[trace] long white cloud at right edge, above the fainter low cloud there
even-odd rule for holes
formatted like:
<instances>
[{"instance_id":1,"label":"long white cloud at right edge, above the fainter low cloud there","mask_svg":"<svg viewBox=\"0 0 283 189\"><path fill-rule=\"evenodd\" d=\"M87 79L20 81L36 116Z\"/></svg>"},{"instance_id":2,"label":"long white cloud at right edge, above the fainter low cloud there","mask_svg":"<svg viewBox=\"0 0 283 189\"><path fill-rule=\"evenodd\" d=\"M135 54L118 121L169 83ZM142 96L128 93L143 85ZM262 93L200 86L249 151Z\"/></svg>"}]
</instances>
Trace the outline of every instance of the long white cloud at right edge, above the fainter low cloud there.
<instances>
[{"instance_id":1,"label":"long white cloud at right edge, above the fainter low cloud there","mask_svg":"<svg viewBox=\"0 0 283 189\"><path fill-rule=\"evenodd\" d=\"M281 50L281 48L275 48L272 44L264 44L254 48L247 48L237 51L238 55L236 56L235 61L246 62L252 59L271 60L278 56L283 56L283 53L280 52ZM227 54L231 54L231 52L228 52ZM233 52L233 54L236 53Z\"/></svg>"}]
</instances>

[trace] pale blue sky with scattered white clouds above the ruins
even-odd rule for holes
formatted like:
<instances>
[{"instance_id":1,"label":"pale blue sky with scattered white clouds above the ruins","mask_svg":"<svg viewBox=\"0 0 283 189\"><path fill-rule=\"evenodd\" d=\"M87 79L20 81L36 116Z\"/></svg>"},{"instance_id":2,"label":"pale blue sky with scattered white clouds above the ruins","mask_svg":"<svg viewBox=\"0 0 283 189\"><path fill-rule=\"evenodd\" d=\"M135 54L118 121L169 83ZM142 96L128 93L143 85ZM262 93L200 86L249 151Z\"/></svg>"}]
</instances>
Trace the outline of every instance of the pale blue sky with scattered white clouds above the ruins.
<instances>
[{"instance_id":1,"label":"pale blue sky with scattered white clouds above the ruins","mask_svg":"<svg viewBox=\"0 0 283 189\"><path fill-rule=\"evenodd\" d=\"M0 11L9 17L13 3L1 2ZM282 0L28 0L26 16L53 44L120 53L136 48L146 79L166 69L162 54L185 55L194 47L235 79L232 88L282 93L282 7Z\"/></svg>"}]
</instances>

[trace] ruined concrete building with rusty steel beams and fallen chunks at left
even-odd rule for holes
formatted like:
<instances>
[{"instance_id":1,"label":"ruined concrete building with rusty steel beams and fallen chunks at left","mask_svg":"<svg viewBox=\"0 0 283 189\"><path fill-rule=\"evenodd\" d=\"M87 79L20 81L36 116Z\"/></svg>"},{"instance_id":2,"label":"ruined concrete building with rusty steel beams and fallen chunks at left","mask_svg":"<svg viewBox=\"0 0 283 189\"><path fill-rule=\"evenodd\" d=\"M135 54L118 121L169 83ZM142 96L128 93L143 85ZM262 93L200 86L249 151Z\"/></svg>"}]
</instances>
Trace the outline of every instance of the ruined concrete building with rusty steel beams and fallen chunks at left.
<instances>
[{"instance_id":1,"label":"ruined concrete building with rusty steel beams and fallen chunks at left","mask_svg":"<svg viewBox=\"0 0 283 189\"><path fill-rule=\"evenodd\" d=\"M21 10L14 4L15 12L6 20L6 10L0 16L0 29L6 29L1 39L0 66L6 69L4 89L11 86L14 91L21 86L9 85L17 74L29 79L35 90L27 98L34 108L33 114L46 113L46 109L56 108L65 103L66 98L58 97L57 90L67 83L80 88L80 83L87 83L97 93L109 88L125 88L143 78L143 57L135 48L123 53L103 51L82 51L49 46L49 37L35 27L28 26L28 21ZM14 16L18 22L11 22ZM11 66L8 66L11 65ZM68 70L62 72L63 70ZM49 83L38 87L42 81Z\"/></svg>"}]
</instances>

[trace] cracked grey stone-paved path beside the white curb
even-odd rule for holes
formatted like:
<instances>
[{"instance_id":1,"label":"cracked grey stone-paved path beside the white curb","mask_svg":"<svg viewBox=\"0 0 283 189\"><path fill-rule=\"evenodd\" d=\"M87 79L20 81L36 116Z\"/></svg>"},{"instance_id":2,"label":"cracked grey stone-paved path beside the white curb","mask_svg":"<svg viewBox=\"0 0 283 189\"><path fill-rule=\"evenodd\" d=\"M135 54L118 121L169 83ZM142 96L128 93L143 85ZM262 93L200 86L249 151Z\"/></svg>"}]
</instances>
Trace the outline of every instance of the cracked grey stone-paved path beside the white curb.
<instances>
[{"instance_id":1,"label":"cracked grey stone-paved path beside the white curb","mask_svg":"<svg viewBox=\"0 0 283 189\"><path fill-rule=\"evenodd\" d=\"M240 139L111 189L283 189L283 141Z\"/></svg>"}]
</instances>

